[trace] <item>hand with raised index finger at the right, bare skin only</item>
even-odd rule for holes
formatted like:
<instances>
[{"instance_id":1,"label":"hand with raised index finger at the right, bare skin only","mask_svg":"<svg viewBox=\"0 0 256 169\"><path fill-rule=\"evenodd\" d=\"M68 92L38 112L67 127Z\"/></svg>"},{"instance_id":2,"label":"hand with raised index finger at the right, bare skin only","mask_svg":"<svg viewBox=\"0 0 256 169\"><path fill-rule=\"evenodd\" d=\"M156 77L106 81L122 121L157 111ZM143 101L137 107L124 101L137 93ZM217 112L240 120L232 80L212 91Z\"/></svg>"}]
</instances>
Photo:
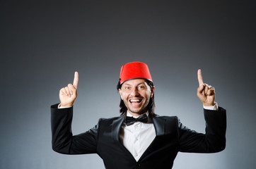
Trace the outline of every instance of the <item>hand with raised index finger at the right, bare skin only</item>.
<instances>
[{"instance_id":1,"label":"hand with raised index finger at the right, bare skin only","mask_svg":"<svg viewBox=\"0 0 256 169\"><path fill-rule=\"evenodd\" d=\"M204 106L214 106L215 104L215 89L209 84L203 82L201 69L197 71L199 87L197 88L197 96L202 101Z\"/></svg>"}]
</instances>

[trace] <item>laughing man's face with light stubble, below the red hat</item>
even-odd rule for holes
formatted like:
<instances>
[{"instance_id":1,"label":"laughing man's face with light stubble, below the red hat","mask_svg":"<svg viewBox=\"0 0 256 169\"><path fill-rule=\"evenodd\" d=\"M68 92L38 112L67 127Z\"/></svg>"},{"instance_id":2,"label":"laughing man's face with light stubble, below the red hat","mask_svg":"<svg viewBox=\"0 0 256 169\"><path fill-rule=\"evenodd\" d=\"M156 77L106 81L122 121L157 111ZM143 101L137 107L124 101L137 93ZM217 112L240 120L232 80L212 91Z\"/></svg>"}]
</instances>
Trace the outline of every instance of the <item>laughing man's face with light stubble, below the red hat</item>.
<instances>
[{"instance_id":1,"label":"laughing man's face with light stubble, below the red hat","mask_svg":"<svg viewBox=\"0 0 256 169\"><path fill-rule=\"evenodd\" d=\"M119 89L121 99L129 113L134 116L146 113L146 106L153 96L155 87L150 88L144 79L128 80Z\"/></svg>"}]
</instances>

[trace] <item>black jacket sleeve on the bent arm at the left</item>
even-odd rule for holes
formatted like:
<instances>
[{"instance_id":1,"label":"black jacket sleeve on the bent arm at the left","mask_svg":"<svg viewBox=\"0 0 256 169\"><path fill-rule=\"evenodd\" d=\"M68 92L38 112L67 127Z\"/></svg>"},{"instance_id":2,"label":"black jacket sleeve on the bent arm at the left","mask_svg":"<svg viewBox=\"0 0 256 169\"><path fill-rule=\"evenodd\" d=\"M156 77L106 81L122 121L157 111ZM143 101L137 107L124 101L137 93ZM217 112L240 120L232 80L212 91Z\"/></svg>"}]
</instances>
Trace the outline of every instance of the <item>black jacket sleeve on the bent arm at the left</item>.
<instances>
[{"instance_id":1,"label":"black jacket sleeve on the bent arm at the left","mask_svg":"<svg viewBox=\"0 0 256 169\"><path fill-rule=\"evenodd\" d=\"M74 135L71 131L73 107L57 108L51 106L52 149L61 154L97 153L98 125L87 132Z\"/></svg>"}]
</instances>

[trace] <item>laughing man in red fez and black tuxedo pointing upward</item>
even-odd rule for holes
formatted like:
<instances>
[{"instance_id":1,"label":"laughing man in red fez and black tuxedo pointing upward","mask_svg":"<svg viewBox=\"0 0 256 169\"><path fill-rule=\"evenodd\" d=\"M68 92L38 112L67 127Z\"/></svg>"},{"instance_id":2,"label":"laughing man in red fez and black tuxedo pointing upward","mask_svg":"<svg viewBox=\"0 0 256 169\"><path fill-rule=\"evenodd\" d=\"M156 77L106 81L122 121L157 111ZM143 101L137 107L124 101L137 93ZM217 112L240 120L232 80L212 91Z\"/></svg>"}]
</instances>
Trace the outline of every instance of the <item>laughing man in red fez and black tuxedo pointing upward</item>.
<instances>
[{"instance_id":1,"label":"laughing man in red fez and black tuxedo pointing upward","mask_svg":"<svg viewBox=\"0 0 256 169\"><path fill-rule=\"evenodd\" d=\"M100 119L88 132L73 136L71 120L76 99L74 83L59 92L60 104L51 107L52 149L62 154L98 154L107 169L172 168L181 152L214 153L226 146L226 110L217 106L214 87L205 84L198 70L197 96L204 105L206 134L190 130L176 116L154 113L153 80L145 63L122 66L117 89L119 117Z\"/></svg>"}]
</instances>

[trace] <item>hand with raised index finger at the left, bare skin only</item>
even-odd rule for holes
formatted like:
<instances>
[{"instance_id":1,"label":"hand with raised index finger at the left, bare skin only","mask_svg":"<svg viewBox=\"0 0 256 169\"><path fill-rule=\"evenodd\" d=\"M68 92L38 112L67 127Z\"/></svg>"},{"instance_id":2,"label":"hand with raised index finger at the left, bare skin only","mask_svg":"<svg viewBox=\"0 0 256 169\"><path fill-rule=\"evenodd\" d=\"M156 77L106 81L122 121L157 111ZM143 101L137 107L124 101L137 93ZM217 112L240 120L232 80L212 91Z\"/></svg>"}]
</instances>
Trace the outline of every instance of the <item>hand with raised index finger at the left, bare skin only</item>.
<instances>
[{"instance_id":1,"label":"hand with raised index finger at the left, bare skin only","mask_svg":"<svg viewBox=\"0 0 256 169\"><path fill-rule=\"evenodd\" d=\"M75 72L73 84L59 90L59 100L63 107L73 106L77 96L78 72Z\"/></svg>"}]
</instances>

